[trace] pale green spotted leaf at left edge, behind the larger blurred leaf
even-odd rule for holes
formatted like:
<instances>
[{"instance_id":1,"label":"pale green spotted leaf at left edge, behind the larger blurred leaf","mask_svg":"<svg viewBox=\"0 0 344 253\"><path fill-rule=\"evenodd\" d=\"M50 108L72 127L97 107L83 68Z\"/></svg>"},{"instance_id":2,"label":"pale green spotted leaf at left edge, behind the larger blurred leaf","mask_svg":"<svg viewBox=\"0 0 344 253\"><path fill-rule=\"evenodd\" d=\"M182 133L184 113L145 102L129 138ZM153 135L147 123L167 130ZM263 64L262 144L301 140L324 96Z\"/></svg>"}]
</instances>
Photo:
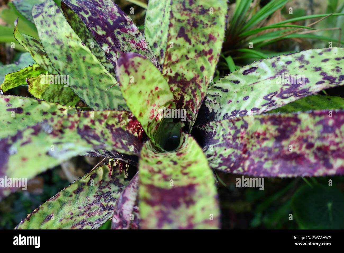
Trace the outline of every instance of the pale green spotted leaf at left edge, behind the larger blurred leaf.
<instances>
[{"instance_id":1,"label":"pale green spotted leaf at left edge, behind the larger blurred leaf","mask_svg":"<svg viewBox=\"0 0 344 253\"><path fill-rule=\"evenodd\" d=\"M0 95L0 139L34 126L54 115L77 113L72 107L12 95Z\"/></svg>"}]
</instances>

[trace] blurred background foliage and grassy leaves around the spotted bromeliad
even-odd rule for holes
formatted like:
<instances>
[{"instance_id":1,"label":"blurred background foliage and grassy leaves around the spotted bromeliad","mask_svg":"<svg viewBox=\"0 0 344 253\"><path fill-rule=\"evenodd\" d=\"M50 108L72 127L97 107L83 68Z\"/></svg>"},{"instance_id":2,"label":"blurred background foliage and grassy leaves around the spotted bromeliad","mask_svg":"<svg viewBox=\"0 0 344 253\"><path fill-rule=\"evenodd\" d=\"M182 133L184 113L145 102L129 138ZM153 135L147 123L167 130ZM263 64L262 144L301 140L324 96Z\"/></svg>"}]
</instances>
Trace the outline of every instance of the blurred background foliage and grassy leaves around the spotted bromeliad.
<instances>
[{"instance_id":1,"label":"blurred background foliage and grassy leaves around the spotted bromeliad","mask_svg":"<svg viewBox=\"0 0 344 253\"><path fill-rule=\"evenodd\" d=\"M148 1L115 2L144 33ZM27 57L23 55L25 49L13 38L13 22L17 17L20 19L19 30L38 38L34 24L20 14L11 1L0 0L0 68L4 64L15 63L19 57ZM329 43L342 46L343 28L343 0L231 1L214 81L267 57L325 48ZM14 48L11 43L14 43ZM27 89L19 86L9 94L30 96ZM344 97L344 88L327 89L320 95ZM76 157L31 180L27 191L13 193L0 202L0 228L13 229L27 213L89 172L100 160ZM264 190L237 188L235 183L236 178L241 177L239 175L219 172L216 176L223 229L344 228L344 176L265 178ZM329 186L329 180L333 181L333 186ZM292 220L290 214L293 215ZM110 221L100 229L109 228Z\"/></svg>"}]
</instances>

